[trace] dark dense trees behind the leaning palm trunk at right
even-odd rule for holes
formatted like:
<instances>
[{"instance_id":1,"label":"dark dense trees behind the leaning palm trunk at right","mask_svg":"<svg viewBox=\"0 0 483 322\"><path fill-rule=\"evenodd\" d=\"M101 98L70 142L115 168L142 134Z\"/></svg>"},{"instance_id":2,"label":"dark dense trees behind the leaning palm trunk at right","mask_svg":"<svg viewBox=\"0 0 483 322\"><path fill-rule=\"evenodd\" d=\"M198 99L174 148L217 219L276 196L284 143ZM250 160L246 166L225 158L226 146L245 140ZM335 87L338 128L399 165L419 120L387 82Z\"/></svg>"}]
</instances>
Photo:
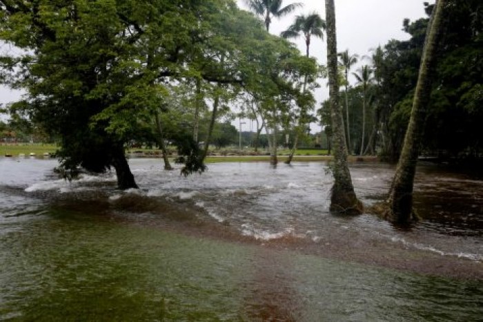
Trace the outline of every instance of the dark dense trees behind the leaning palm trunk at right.
<instances>
[{"instance_id":1,"label":"dark dense trees behind the leaning palm trunk at right","mask_svg":"<svg viewBox=\"0 0 483 322\"><path fill-rule=\"evenodd\" d=\"M444 19L451 23L437 46L437 66L433 73L422 151L444 158L481 157L483 4L477 0L463 0L449 1L449 6ZM424 10L431 15L433 5L425 3ZM349 122L345 124L350 153L379 152L387 160L399 158L427 26L428 18L405 19L403 30L410 39L391 40L362 58L364 64L370 62L369 66L356 70L357 82L344 91L350 112ZM341 67L345 69L344 53L339 55Z\"/></svg>"}]
</instances>

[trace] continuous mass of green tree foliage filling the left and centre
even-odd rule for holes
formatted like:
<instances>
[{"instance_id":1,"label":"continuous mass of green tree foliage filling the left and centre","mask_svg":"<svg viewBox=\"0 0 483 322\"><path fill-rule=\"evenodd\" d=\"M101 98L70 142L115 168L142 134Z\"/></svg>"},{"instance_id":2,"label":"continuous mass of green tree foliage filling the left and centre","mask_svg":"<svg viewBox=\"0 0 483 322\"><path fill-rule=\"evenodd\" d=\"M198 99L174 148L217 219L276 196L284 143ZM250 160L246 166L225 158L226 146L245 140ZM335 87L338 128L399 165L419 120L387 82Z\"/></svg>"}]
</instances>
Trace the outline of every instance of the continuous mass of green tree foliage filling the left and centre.
<instances>
[{"instance_id":1,"label":"continuous mass of green tree foliage filling the left and centre","mask_svg":"<svg viewBox=\"0 0 483 322\"><path fill-rule=\"evenodd\" d=\"M1 79L28 93L10 111L61 140L64 167L115 167L121 188L136 187L129 142L165 135L190 160L185 170L200 171L203 111L213 106L216 124L220 102L246 91L278 122L297 104L300 75L315 73L313 59L230 0L1 0L0 8L0 40L18 49L1 57Z\"/></svg>"}]
</instances>

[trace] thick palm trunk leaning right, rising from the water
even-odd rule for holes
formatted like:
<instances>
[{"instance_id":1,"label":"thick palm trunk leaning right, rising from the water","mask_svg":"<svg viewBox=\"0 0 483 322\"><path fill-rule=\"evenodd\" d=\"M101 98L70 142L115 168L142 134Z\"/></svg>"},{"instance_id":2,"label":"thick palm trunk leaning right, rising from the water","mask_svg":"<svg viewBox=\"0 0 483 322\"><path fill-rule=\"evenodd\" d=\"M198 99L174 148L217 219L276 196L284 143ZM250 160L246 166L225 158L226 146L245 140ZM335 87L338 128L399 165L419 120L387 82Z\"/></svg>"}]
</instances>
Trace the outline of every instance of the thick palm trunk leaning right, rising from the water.
<instances>
[{"instance_id":1,"label":"thick palm trunk leaning right, rising from the water","mask_svg":"<svg viewBox=\"0 0 483 322\"><path fill-rule=\"evenodd\" d=\"M413 97L411 117L389 194L388 203L391 209L388 215L391 220L400 224L406 224L411 221L411 218L415 218L413 216L413 183L426 117L426 107L431 94L431 72L435 66L436 47L442 30L444 6L446 6L446 0L436 1L426 31L426 41L424 42L420 73Z\"/></svg>"}]
</instances>

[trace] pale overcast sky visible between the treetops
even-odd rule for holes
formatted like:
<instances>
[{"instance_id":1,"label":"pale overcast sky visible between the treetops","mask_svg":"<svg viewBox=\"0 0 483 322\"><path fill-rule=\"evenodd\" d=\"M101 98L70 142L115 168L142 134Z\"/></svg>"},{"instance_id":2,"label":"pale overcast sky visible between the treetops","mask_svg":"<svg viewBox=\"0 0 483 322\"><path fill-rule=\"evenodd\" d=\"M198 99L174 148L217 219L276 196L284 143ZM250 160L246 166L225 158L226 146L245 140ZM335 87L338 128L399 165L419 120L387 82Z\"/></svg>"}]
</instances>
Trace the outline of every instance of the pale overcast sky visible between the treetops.
<instances>
[{"instance_id":1,"label":"pale overcast sky visible between the treetops","mask_svg":"<svg viewBox=\"0 0 483 322\"><path fill-rule=\"evenodd\" d=\"M295 1L284 0L284 4L293 2ZM292 15L282 19L273 19L270 25L271 33L279 35L286 30L293 23L296 15L317 12L322 18L325 17L324 1L299 0L299 2L304 4L303 8L297 9ZM423 2L423 0L335 0L337 50L340 52L348 49L350 53L368 55L371 48L384 46L390 39L408 39L408 35L402 31L402 21L404 18L413 21L424 17ZM428 2L434 3L434 0ZM241 8L246 8L244 0L237 0L237 3ZM297 39L295 43L302 53L305 53L304 40ZM311 56L317 57L320 63L325 63L326 44L322 40L313 39ZM322 83L322 88L316 93L318 102L326 100L328 95L326 81ZM17 100L18 97L19 92L0 87L0 103L6 104ZM248 124L242 129L248 130Z\"/></svg>"}]
</instances>

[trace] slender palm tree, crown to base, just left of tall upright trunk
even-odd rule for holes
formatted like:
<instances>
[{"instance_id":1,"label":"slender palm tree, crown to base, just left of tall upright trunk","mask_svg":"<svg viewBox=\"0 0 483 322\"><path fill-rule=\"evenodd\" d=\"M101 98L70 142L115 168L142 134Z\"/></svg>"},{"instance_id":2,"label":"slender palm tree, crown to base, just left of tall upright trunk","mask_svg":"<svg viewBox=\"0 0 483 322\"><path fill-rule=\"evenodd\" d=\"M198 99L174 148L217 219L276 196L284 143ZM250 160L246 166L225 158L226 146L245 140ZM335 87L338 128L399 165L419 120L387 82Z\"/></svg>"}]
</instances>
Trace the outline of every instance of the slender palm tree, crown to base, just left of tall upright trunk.
<instances>
[{"instance_id":1,"label":"slender palm tree, crown to base, just left of tall upright trunk","mask_svg":"<svg viewBox=\"0 0 483 322\"><path fill-rule=\"evenodd\" d=\"M318 37L320 39L324 39L324 30L326 29L326 22L322 19L316 12L311 13L310 15L301 15L295 17L295 22L288 27L287 30L282 32L281 36L284 38L298 38L301 34L304 35L305 44L306 44L306 56L309 57L310 47L311 47L311 37ZM305 93L307 86L307 75L304 78L304 88L303 92ZM295 140L293 142L293 148L290 151L290 155L288 155L288 159L286 160L286 164L290 164L293 159L293 155L297 150L297 143L299 139L299 129L304 128L304 123L307 111L306 108L303 108L300 111L299 117L299 126L297 131L295 131Z\"/></svg>"}]
</instances>

